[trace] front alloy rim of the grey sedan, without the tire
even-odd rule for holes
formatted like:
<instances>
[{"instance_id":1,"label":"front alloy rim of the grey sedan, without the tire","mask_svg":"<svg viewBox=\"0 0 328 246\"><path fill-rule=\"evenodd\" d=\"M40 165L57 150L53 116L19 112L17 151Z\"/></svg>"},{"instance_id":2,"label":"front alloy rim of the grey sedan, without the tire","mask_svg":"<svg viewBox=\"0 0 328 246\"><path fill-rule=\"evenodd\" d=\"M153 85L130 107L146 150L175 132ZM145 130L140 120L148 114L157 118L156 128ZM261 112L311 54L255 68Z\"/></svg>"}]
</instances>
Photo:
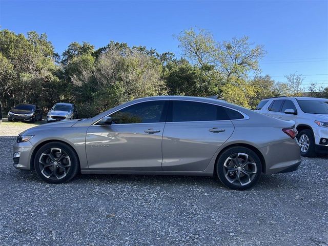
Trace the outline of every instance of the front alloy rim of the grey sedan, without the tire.
<instances>
[{"instance_id":1,"label":"front alloy rim of the grey sedan, without the tire","mask_svg":"<svg viewBox=\"0 0 328 246\"><path fill-rule=\"evenodd\" d=\"M71 168L71 159L64 150L51 148L40 155L38 164L41 173L46 178L57 180L68 174Z\"/></svg>"}]
</instances>

